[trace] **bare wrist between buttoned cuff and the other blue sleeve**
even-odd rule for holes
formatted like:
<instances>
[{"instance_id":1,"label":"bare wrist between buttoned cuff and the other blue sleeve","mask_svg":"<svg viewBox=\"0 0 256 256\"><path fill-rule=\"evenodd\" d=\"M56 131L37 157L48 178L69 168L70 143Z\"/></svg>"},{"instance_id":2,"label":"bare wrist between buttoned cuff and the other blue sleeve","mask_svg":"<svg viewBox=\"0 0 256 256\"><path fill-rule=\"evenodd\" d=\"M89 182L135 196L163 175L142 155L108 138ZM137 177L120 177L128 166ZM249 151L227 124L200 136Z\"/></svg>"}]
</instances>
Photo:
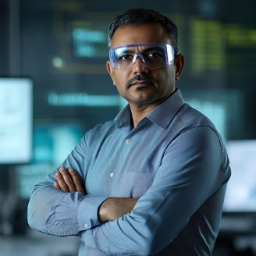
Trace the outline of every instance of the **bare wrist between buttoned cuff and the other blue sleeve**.
<instances>
[{"instance_id":1,"label":"bare wrist between buttoned cuff and the other blue sleeve","mask_svg":"<svg viewBox=\"0 0 256 256\"><path fill-rule=\"evenodd\" d=\"M98 208L98 221L107 222L119 219L132 212L139 198L109 197Z\"/></svg>"}]
</instances>

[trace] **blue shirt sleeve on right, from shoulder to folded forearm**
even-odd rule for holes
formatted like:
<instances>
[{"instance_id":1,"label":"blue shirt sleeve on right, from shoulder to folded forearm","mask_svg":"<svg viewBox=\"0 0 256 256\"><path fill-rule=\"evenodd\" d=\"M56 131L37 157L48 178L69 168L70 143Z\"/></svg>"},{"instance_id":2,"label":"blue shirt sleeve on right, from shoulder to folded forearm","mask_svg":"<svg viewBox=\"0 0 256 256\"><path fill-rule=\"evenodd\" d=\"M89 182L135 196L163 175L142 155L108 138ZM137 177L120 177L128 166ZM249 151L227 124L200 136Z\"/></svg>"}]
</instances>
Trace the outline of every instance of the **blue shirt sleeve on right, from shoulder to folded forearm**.
<instances>
[{"instance_id":1,"label":"blue shirt sleeve on right, from shoulder to folded forearm","mask_svg":"<svg viewBox=\"0 0 256 256\"><path fill-rule=\"evenodd\" d=\"M197 126L184 131L169 144L154 182L133 211L81 232L80 239L86 247L106 254L158 253L179 235L229 175L225 148L212 128ZM215 210L221 212L222 202L218 205ZM215 210L209 215L215 215Z\"/></svg>"}]
</instances>

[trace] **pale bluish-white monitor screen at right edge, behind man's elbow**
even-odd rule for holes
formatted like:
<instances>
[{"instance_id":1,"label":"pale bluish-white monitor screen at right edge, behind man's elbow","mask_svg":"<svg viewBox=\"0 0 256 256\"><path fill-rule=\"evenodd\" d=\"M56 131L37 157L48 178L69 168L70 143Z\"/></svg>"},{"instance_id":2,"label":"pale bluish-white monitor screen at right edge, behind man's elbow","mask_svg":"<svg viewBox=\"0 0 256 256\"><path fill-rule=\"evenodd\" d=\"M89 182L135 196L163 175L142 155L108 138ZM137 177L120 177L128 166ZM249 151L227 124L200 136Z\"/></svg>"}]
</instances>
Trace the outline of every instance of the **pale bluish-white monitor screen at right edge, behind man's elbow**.
<instances>
[{"instance_id":1,"label":"pale bluish-white monitor screen at right edge, behind man's elbow","mask_svg":"<svg viewBox=\"0 0 256 256\"><path fill-rule=\"evenodd\" d=\"M230 140L226 144L231 177L224 212L256 212L256 140Z\"/></svg>"}]
</instances>

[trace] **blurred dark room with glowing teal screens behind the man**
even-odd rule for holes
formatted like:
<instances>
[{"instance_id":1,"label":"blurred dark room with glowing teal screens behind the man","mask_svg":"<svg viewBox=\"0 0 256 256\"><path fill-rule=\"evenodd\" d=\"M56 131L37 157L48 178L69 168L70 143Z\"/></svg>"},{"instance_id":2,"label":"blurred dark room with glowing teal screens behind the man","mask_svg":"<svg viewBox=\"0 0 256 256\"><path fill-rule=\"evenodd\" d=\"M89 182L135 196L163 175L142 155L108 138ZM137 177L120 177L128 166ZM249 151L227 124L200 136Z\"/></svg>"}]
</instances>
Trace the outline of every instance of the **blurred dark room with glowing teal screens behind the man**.
<instances>
[{"instance_id":1,"label":"blurred dark room with glowing teal screens behind the man","mask_svg":"<svg viewBox=\"0 0 256 256\"><path fill-rule=\"evenodd\" d=\"M212 119L233 176L213 255L256 255L256 2L0 0L0 254L74 256L79 240L27 226L34 183L126 102L105 69L109 23L151 8L179 27L177 87Z\"/></svg>"}]
</instances>

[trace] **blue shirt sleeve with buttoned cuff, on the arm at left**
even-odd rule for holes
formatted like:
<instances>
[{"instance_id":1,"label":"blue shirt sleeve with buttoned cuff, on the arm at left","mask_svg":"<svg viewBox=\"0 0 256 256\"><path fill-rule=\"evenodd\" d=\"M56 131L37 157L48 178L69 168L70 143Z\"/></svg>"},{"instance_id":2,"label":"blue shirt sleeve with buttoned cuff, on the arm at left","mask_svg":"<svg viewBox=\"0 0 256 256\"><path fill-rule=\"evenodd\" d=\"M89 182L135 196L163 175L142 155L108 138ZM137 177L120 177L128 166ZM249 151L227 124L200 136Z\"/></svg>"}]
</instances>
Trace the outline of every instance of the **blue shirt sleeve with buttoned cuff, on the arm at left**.
<instances>
[{"instance_id":1,"label":"blue shirt sleeve with buttoned cuff, on the arm at left","mask_svg":"<svg viewBox=\"0 0 256 256\"><path fill-rule=\"evenodd\" d=\"M84 136L62 163L73 167L84 179L84 156L87 144ZM97 226L98 207L107 197L84 196L80 192L64 193L53 187L55 172L37 183L30 195L28 223L33 229L55 236L77 235L80 231Z\"/></svg>"}]
</instances>

